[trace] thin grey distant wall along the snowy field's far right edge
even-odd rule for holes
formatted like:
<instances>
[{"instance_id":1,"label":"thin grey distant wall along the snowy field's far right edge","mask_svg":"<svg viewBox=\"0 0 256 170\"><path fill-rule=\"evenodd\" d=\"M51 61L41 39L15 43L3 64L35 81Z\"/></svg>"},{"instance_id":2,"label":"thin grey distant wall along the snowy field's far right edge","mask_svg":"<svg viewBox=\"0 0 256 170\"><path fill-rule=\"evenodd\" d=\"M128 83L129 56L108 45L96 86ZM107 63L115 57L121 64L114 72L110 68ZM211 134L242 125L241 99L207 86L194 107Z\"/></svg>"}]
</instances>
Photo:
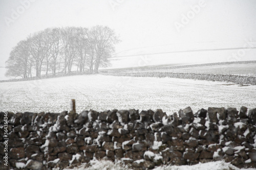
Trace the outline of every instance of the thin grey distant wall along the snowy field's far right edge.
<instances>
[{"instance_id":1,"label":"thin grey distant wall along the snowy field's far right edge","mask_svg":"<svg viewBox=\"0 0 256 170\"><path fill-rule=\"evenodd\" d=\"M129 76L129 77L158 77L158 78L180 78L207 81L232 82L236 84L256 85L256 77L222 74L195 74L183 72L101 72L108 76Z\"/></svg>"}]
</instances>

